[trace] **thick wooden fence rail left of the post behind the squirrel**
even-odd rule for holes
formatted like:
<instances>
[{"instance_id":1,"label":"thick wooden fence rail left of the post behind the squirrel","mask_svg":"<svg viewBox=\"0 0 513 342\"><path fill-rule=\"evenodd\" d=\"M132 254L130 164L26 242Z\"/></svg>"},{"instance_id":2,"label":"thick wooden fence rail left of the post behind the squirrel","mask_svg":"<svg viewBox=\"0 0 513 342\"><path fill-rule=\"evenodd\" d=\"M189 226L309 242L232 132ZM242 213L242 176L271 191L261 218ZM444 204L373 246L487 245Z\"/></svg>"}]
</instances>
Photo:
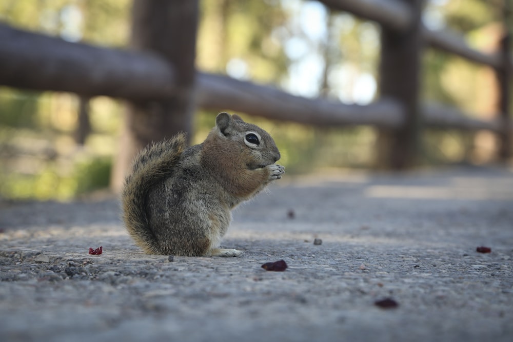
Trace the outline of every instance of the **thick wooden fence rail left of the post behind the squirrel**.
<instances>
[{"instance_id":1,"label":"thick wooden fence rail left of the post behind the squirrel","mask_svg":"<svg viewBox=\"0 0 513 342\"><path fill-rule=\"evenodd\" d=\"M154 53L70 43L0 24L0 83L134 100L164 99L176 90L172 65Z\"/></svg>"}]
</instances>

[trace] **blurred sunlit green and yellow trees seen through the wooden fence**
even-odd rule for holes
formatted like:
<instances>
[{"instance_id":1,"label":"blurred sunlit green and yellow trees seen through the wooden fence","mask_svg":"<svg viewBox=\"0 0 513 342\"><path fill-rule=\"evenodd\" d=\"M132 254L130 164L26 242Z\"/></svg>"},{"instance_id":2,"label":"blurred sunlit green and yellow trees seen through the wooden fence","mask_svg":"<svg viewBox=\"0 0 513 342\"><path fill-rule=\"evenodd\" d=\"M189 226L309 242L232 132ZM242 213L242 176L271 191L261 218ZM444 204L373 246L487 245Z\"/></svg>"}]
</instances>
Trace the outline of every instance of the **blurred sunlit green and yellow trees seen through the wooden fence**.
<instances>
[{"instance_id":1,"label":"blurred sunlit green and yellow trees seen through the wooden fence","mask_svg":"<svg viewBox=\"0 0 513 342\"><path fill-rule=\"evenodd\" d=\"M131 3L2 0L0 21L70 42L124 48L130 38ZM348 104L364 105L376 98L378 25L311 1L200 4L199 70ZM485 0L431 0L422 19L428 28L465 33L470 46L495 51L502 16L494 8ZM422 100L492 117L497 91L490 68L425 50ZM0 198L69 200L108 188L124 110L122 100L109 97L0 87ZM203 141L215 114L196 112L193 143ZM241 114L271 133L288 174L375 166L377 131L372 127L313 128ZM428 129L420 163L488 164L494 162L496 149L495 135L487 131Z\"/></svg>"}]
</instances>

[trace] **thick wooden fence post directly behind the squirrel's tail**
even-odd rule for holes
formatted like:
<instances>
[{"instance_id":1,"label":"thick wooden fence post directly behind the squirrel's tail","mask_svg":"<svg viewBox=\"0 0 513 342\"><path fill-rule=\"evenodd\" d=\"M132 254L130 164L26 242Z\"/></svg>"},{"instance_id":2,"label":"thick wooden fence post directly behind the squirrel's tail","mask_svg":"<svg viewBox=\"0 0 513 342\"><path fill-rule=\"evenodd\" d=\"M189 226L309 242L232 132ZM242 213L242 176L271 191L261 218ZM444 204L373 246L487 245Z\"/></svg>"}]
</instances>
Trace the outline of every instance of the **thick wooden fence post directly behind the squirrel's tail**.
<instances>
[{"instance_id":1,"label":"thick wooden fence post directly behind the squirrel's tail","mask_svg":"<svg viewBox=\"0 0 513 342\"><path fill-rule=\"evenodd\" d=\"M194 59L198 0L134 0L131 46L159 54L174 67L176 95L169 100L131 102L111 176L119 192L132 158L152 142L190 132L194 110Z\"/></svg>"}]
</instances>

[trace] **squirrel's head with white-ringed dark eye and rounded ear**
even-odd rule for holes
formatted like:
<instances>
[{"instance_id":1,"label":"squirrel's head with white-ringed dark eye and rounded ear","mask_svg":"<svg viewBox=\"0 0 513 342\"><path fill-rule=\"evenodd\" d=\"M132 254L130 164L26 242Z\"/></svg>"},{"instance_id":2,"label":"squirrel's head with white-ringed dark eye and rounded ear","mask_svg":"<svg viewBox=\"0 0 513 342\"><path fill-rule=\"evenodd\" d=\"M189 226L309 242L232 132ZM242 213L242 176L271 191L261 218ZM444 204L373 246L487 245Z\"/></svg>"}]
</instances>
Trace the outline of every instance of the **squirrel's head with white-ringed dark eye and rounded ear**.
<instances>
[{"instance_id":1,"label":"squirrel's head with white-ringed dark eye and rounded ear","mask_svg":"<svg viewBox=\"0 0 513 342\"><path fill-rule=\"evenodd\" d=\"M280 159L280 151L269 133L244 122L239 115L219 113L212 133L227 153L239 153L249 169L263 168Z\"/></svg>"}]
</instances>

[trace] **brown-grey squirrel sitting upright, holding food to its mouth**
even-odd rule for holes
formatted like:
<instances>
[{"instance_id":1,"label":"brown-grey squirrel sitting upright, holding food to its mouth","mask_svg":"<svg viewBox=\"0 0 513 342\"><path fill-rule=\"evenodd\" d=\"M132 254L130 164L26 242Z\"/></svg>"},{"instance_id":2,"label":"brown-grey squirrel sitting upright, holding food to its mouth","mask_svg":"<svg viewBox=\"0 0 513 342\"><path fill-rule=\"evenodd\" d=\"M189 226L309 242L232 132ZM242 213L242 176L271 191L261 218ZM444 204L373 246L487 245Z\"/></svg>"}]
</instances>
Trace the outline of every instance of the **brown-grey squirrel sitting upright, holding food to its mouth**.
<instances>
[{"instance_id":1,"label":"brown-grey squirrel sitting upright, holding food to its mouth","mask_svg":"<svg viewBox=\"0 0 513 342\"><path fill-rule=\"evenodd\" d=\"M260 127L219 113L202 144L186 135L143 149L121 194L123 221L148 254L242 256L219 248L231 209L280 179L280 151Z\"/></svg>"}]
</instances>

